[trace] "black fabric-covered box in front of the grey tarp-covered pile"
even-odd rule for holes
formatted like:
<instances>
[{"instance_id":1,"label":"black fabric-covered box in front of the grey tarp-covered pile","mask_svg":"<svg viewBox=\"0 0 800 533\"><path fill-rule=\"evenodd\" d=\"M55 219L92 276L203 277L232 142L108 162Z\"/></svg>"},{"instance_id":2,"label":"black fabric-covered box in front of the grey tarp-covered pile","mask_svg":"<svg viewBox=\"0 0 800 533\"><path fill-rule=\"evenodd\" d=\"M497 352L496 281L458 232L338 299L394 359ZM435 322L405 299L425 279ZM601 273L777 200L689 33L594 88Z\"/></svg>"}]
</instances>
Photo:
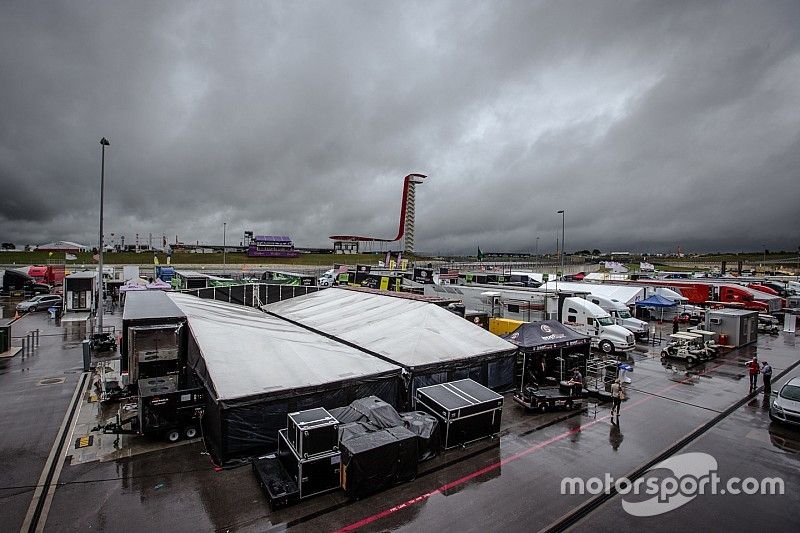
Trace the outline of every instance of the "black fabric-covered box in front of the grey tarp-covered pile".
<instances>
[{"instance_id":1,"label":"black fabric-covered box in front of the grey tarp-covered pile","mask_svg":"<svg viewBox=\"0 0 800 533\"><path fill-rule=\"evenodd\" d=\"M341 486L361 498L417 477L417 435L403 426L342 441Z\"/></svg>"}]
</instances>

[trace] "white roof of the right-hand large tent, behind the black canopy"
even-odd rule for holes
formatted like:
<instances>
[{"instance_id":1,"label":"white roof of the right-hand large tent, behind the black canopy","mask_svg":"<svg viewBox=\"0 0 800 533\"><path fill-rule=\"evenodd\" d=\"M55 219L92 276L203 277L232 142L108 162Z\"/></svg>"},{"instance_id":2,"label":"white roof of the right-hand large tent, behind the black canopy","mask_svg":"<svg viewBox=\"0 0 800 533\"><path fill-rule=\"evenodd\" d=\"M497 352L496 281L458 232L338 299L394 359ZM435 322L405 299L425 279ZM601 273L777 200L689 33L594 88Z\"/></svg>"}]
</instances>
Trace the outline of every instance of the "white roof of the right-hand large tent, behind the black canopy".
<instances>
[{"instance_id":1,"label":"white roof of the right-hand large tent, behind the black canopy","mask_svg":"<svg viewBox=\"0 0 800 533\"><path fill-rule=\"evenodd\" d=\"M410 368L516 350L437 305L382 294L330 288L263 309Z\"/></svg>"}]
</instances>

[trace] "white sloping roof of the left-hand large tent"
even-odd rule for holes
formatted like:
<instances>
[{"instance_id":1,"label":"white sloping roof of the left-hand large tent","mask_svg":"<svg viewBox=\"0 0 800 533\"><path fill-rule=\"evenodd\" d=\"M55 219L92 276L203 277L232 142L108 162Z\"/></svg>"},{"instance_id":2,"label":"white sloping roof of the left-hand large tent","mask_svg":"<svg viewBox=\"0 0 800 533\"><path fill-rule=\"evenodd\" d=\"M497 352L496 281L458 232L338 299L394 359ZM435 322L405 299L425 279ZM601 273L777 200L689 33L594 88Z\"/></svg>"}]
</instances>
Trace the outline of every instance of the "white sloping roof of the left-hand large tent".
<instances>
[{"instance_id":1,"label":"white sloping roof of the left-hand large tent","mask_svg":"<svg viewBox=\"0 0 800 533\"><path fill-rule=\"evenodd\" d=\"M186 314L206 377L219 400L399 374L401 370L257 309L180 293L145 294L162 295Z\"/></svg>"}]
</instances>

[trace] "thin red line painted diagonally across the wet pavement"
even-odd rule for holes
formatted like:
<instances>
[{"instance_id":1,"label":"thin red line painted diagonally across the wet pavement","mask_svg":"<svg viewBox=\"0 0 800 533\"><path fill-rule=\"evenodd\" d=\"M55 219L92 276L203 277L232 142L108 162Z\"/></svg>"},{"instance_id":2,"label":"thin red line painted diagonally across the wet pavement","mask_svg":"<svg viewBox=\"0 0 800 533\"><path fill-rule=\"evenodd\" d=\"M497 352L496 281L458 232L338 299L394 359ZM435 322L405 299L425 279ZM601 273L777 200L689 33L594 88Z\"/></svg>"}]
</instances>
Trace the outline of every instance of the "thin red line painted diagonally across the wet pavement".
<instances>
[{"instance_id":1,"label":"thin red line painted diagonally across the wet pavement","mask_svg":"<svg viewBox=\"0 0 800 533\"><path fill-rule=\"evenodd\" d=\"M710 368L710 369L708 369L708 370L706 370L704 372L700 372L697 375L698 376L702 376L702 375L707 374L707 373L709 373L709 372L711 372L713 370L716 370L717 368L719 368L721 366L723 366L723 363L720 363L720 364L718 364L718 365L716 365L716 366L714 366L714 367L712 367L712 368ZM678 381L677 383L673 383L672 385L670 385L668 387L664 387L663 389L659 390L658 392L656 392L656 394L658 394L658 395L664 394L665 392L668 392L668 391L674 389L675 387L683 385L683 384L687 383L688 381L689 381L689 378L686 378L684 380ZM637 401L633 402L632 404L626 405L625 407L622 408L622 410L623 411L628 411L628 410L633 409L634 407L636 407L638 405L641 405L643 403L647 403L647 402L649 402L649 401L651 401L651 400L653 400L655 398L656 398L656 396L647 396L645 398L642 398L640 400L637 400ZM379 513L375 513L374 515L367 516L366 518L362 518L358 522L353 522L350 525L344 526L341 529L336 530L336 533L345 533L347 531L355 531L355 530L357 530L359 528L362 528L362 527L364 527L366 525L369 525L369 524L371 524L373 522L381 520L382 518L386 518L387 516L390 516L390 515L396 513L397 511L401 511L401 510L403 510L403 509L405 509L407 507L411 507L412 505L416 505L416 504L418 504L420 502L424 502L425 500L431 498L432 496L434 496L436 494L440 494L440 493L442 493L442 492L444 492L446 490L452 489L452 488L457 487L459 485L463 485L467 481L469 481L471 479L474 479L474 478L476 478L478 476L482 476L483 474L491 472L492 470L497 470L498 468L500 468L500 467L502 467L502 466L504 466L504 465L506 465L506 464L508 464L508 463L510 463L512 461L516 461L518 459L521 459L521 458L525 457L526 455L529 455L529 454L531 454L531 453L533 453L533 452L535 452L537 450L541 450L542 448L544 448L546 446L550 446L551 444L553 444L555 442L558 442L560 440L564 440L565 438L569 437L570 435L574 435L575 433L580 433L584 429L590 428L590 427L594 426L595 424L598 424L598 423L600 423L600 422L602 422L602 421L604 421L604 420L606 420L608 418L610 418L610 416L606 415L606 416L604 416L602 418L597 418L595 420L592 420L591 422L589 422L587 424L583 424L583 425L578 426L576 428L570 429L569 431L565 431L564 433L561 433L561 434L556 435L554 437L550 437L549 439L547 439L545 441L542 441L542 442L540 442L538 444L534 444L530 448L522 450L521 452L517 452L514 455L509 455L505 459L502 459L502 460L497 461L495 463L492 463L492 464L490 464L488 466L485 466L485 467L483 467L483 468L481 468L479 470L476 470L476 471L474 471L474 472L472 472L470 474L467 474L464 477L460 477L460 478L458 478L458 479L456 479L454 481L446 483L446 484L442 485L439 488L436 488L436 489L434 489L432 491L429 491L429 492L425 492L423 494L420 494L419 496L416 496L415 498L411 498L410 500L406 500L403 503L400 503L400 504L395 505L393 507L389 507L388 509L384 509L383 511L381 511Z\"/></svg>"}]
</instances>

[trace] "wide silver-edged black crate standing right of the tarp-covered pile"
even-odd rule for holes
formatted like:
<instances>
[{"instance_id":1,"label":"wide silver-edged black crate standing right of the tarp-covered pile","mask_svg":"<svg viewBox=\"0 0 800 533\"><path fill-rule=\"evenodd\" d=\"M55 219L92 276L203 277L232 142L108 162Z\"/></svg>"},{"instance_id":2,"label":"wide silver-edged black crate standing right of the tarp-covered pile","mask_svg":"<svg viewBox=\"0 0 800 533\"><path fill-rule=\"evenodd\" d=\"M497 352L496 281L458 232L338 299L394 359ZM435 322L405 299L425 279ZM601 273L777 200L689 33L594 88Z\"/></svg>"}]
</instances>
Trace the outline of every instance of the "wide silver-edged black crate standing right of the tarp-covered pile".
<instances>
[{"instance_id":1,"label":"wide silver-edged black crate standing right of the tarp-covered pile","mask_svg":"<svg viewBox=\"0 0 800 533\"><path fill-rule=\"evenodd\" d=\"M415 401L442 423L445 450L500 432L503 397L471 379L419 388Z\"/></svg>"}]
</instances>

